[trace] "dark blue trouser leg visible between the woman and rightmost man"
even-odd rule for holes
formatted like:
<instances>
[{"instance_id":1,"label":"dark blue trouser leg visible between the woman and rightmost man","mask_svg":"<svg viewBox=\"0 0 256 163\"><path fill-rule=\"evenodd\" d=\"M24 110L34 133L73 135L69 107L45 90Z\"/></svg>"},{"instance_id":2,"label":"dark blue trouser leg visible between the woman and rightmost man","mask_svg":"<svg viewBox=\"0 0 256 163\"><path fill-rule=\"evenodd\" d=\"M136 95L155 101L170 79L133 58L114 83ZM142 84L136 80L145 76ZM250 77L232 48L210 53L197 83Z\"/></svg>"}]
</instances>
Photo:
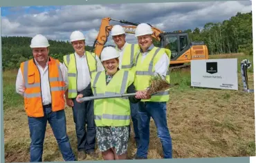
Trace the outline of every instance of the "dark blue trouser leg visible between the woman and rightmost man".
<instances>
[{"instance_id":1,"label":"dark blue trouser leg visible between the woman and rightmost man","mask_svg":"<svg viewBox=\"0 0 256 163\"><path fill-rule=\"evenodd\" d=\"M131 120L134 126L134 134L135 134L135 141L138 146L138 142L140 140L140 135L138 133L138 103L131 103L130 102L130 108L131 108ZM129 126L129 133L131 132L131 126Z\"/></svg>"}]
</instances>

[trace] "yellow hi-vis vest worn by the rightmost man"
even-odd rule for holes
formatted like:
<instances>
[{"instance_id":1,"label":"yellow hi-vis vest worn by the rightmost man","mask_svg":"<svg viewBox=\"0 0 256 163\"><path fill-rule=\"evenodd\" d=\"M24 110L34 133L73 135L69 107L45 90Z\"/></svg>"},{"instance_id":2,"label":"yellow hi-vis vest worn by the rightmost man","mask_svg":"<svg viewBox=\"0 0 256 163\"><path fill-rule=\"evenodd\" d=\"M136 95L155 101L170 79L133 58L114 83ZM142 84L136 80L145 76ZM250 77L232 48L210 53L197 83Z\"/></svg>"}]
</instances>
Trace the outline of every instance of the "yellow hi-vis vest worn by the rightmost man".
<instances>
[{"instance_id":1,"label":"yellow hi-vis vest worn by the rightmost man","mask_svg":"<svg viewBox=\"0 0 256 163\"><path fill-rule=\"evenodd\" d=\"M160 47L153 47L152 50L149 51L147 56L145 57L144 61L141 62L141 52L136 56L135 61L135 80L134 85L136 90L145 90L149 87L149 78L154 76L155 72L155 65L163 56L163 54L167 54L170 58L171 51L165 48ZM168 83L170 83L170 74L169 74L169 66L167 67L167 75L165 76ZM167 89L163 92L155 94L148 100L141 100L141 101L151 101L151 102L167 102L169 100L170 89Z\"/></svg>"}]
</instances>

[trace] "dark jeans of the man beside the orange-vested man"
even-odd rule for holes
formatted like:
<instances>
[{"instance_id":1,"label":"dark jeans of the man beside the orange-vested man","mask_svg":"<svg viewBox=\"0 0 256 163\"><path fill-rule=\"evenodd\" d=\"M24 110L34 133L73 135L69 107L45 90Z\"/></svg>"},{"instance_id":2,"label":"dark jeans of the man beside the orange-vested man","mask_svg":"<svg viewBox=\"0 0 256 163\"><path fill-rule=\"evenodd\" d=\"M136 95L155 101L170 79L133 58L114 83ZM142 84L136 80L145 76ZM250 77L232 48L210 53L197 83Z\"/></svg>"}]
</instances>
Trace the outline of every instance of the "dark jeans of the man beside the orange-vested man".
<instances>
[{"instance_id":1,"label":"dark jeans of the man beside the orange-vested man","mask_svg":"<svg viewBox=\"0 0 256 163\"><path fill-rule=\"evenodd\" d=\"M78 92L78 94L80 93ZM93 100L79 103L74 98L73 103L72 110L77 135L77 151L90 153L95 150L96 142Z\"/></svg>"}]
</instances>

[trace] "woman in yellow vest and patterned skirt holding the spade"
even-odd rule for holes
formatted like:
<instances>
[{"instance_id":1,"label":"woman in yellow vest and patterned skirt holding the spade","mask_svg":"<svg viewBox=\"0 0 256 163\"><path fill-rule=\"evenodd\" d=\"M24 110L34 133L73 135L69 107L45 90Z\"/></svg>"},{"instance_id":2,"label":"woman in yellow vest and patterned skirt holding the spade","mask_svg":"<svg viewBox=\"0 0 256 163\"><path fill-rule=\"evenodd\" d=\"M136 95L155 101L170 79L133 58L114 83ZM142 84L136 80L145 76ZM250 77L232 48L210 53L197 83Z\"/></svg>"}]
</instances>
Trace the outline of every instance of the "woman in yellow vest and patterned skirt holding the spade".
<instances>
[{"instance_id":1,"label":"woman in yellow vest and patterned skirt holding the spade","mask_svg":"<svg viewBox=\"0 0 256 163\"><path fill-rule=\"evenodd\" d=\"M129 98L105 98L94 100L94 120L98 147L104 160L125 160L129 140L130 105L140 99L148 99L146 91L136 91L133 85L134 72L118 68L119 54L113 47L102 50L101 61L105 71L95 72L91 84L82 91L84 96L107 96L114 94L135 93Z\"/></svg>"}]
</instances>

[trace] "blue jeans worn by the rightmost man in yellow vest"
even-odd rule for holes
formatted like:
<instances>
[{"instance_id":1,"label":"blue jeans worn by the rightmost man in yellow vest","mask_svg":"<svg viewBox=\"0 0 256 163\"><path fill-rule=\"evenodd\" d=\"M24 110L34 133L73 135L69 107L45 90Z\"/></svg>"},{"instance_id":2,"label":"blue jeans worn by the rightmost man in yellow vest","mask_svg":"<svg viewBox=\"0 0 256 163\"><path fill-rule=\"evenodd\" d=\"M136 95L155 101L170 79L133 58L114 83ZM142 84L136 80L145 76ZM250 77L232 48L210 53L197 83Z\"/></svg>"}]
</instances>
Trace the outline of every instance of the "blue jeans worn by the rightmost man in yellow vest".
<instances>
[{"instance_id":1,"label":"blue jeans worn by the rightmost man in yellow vest","mask_svg":"<svg viewBox=\"0 0 256 163\"><path fill-rule=\"evenodd\" d=\"M149 148L149 122L153 118L158 138L163 147L163 157L172 158L172 138L167 127L166 102L139 102L138 108L138 130L140 143L136 157L147 159Z\"/></svg>"}]
</instances>

